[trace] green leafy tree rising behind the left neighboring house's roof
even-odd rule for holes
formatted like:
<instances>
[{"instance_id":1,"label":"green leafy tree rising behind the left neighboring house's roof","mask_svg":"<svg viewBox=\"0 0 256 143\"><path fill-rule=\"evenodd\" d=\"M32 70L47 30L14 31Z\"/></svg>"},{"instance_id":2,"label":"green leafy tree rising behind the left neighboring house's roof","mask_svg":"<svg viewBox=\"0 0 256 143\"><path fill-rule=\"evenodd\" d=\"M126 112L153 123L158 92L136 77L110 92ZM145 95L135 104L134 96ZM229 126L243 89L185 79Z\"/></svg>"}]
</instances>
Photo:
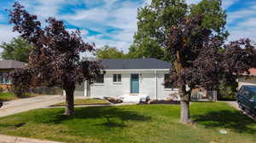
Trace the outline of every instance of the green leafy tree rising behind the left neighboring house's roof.
<instances>
[{"instance_id":1,"label":"green leafy tree rising behind the left neighboring house's roof","mask_svg":"<svg viewBox=\"0 0 256 143\"><path fill-rule=\"evenodd\" d=\"M32 45L27 43L22 37L14 38L9 43L1 44L0 47L3 49L1 54L3 59L22 62L28 62L28 56L33 49Z\"/></svg>"}]
</instances>

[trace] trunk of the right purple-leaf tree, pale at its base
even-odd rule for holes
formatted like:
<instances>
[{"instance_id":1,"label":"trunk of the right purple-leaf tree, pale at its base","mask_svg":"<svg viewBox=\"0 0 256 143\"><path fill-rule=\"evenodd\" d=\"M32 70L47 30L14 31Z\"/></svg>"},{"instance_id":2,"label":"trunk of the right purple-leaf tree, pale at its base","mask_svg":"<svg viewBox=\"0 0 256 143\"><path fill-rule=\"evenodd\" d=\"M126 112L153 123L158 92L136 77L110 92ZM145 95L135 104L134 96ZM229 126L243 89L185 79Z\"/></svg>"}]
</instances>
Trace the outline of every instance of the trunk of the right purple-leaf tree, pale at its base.
<instances>
[{"instance_id":1,"label":"trunk of the right purple-leaf tree, pale at its base","mask_svg":"<svg viewBox=\"0 0 256 143\"><path fill-rule=\"evenodd\" d=\"M180 122L181 123L189 123L189 94L186 92L186 85L181 76L183 71L183 59L181 51L177 51L177 62L175 63L176 72L178 75L178 94L180 96L180 106L181 106L181 116Z\"/></svg>"}]
</instances>

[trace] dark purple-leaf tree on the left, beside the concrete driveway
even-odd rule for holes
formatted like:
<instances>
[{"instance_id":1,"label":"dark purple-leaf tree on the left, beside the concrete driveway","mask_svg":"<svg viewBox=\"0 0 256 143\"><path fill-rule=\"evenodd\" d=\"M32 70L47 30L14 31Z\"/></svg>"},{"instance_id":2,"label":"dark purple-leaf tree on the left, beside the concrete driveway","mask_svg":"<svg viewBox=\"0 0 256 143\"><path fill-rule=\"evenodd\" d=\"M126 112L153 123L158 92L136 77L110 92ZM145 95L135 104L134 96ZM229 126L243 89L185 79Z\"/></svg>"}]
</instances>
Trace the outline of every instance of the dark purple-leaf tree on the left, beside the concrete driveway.
<instances>
[{"instance_id":1,"label":"dark purple-leaf tree on the left, beside the concrete driveway","mask_svg":"<svg viewBox=\"0 0 256 143\"><path fill-rule=\"evenodd\" d=\"M36 15L29 14L26 9L15 3L9 10L13 31L34 46L29 55L26 68L12 74L17 86L60 86L66 92L67 107L65 114L72 115L73 93L76 83L91 81L102 72L99 61L80 60L80 53L95 51L94 46L84 43L80 31L67 31L63 21L49 18L48 26L42 28Z\"/></svg>"}]
</instances>

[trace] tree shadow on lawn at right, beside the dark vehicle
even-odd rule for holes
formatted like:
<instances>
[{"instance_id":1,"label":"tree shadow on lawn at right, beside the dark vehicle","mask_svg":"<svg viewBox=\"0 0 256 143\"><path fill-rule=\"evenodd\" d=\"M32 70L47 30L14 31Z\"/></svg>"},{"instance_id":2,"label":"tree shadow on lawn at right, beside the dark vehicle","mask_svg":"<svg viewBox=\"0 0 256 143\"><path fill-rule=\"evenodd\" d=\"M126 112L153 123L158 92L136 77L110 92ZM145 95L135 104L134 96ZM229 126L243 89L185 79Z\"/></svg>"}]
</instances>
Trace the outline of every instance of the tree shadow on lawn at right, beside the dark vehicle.
<instances>
[{"instance_id":1,"label":"tree shadow on lawn at right, beside the dark vehicle","mask_svg":"<svg viewBox=\"0 0 256 143\"><path fill-rule=\"evenodd\" d=\"M223 110L207 112L207 114L192 116L192 118L206 128L224 128L237 133L256 134L256 123L241 112Z\"/></svg>"}]
</instances>

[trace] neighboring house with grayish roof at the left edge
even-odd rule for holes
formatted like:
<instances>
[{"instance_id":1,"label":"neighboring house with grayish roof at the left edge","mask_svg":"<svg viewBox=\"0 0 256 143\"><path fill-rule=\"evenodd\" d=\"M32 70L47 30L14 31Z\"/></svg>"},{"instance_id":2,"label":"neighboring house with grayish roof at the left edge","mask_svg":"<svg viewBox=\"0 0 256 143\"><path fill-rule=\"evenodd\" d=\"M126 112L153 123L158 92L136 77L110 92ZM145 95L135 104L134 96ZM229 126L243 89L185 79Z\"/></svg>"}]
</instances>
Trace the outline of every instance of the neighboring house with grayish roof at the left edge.
<instances>
[{"instance_id":1,"label":"neighboring house with grayish roof at the left edge","mask_svg":"<svg viewBox=\"0 0 256 143\"><path fill-rule=\"evenodd\" d=\"M26 66L26 63L16 60L0 60L0 88L9 89L11 85L9 72Z\"/></svg>"}]
</instances>

